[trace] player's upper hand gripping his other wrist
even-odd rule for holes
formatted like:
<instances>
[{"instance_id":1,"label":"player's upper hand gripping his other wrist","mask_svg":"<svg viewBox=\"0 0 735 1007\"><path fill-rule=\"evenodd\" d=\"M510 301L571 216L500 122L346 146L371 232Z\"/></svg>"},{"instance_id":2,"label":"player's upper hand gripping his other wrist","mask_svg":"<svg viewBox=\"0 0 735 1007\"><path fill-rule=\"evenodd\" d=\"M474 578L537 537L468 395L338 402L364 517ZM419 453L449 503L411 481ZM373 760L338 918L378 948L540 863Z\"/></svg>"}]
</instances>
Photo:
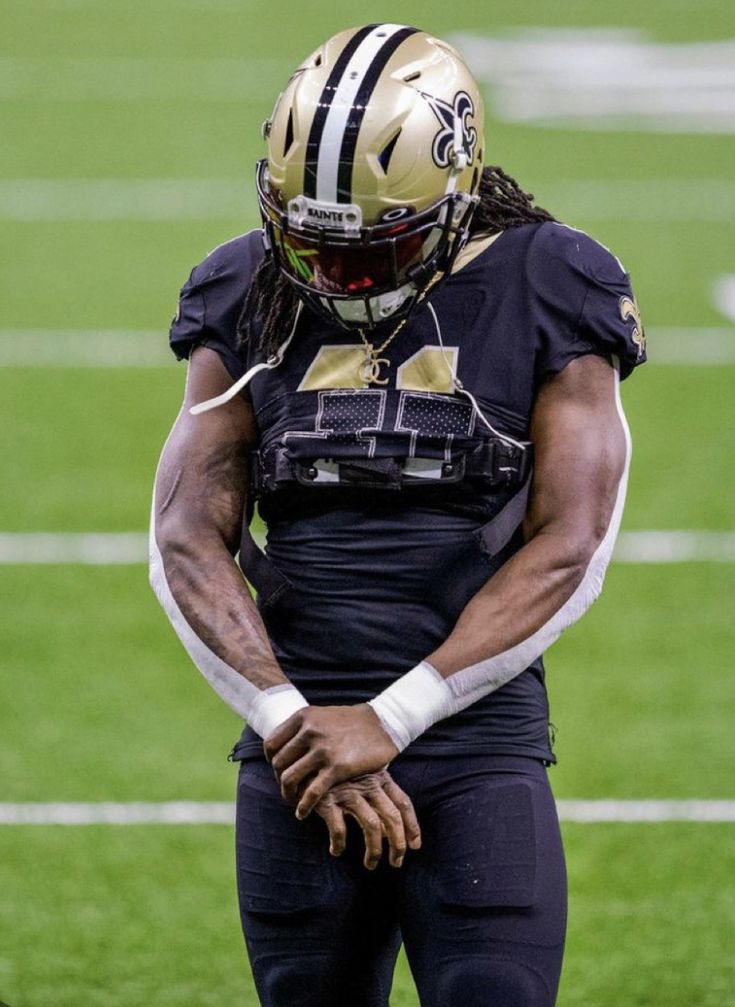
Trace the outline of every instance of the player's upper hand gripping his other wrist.
<instances>
[{"instance_id":1,"label":"player's upper hand gripping his other wrist","mask_svg":"<svg viewBox=\"0 0 735 1007\"><path fill-rule=\"evenodd\" d=\"M385 769L398 748L372 706L306 706L266 738L263 748L303 819L336 783Z\"/></svg>"}]
</instances>

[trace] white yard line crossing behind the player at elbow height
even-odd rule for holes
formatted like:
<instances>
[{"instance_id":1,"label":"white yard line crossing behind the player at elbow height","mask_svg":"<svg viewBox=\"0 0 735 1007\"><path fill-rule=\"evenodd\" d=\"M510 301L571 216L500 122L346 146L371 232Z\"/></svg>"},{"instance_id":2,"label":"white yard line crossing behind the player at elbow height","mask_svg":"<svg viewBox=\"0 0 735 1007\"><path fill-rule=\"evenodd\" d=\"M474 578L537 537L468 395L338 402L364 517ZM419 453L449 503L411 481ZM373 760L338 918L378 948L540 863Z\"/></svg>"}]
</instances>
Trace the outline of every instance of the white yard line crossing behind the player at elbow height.
<instances>
[{"instance_id":1,"label":"white yard line crossing behind the player at elbow height","mask_svg":"<svg viewBox=\"0 0 735 1007\"><path fill-rule=\"evenodd\" d=\"M612 558L616 563L735 563L735 532L621 532ZM144 532L0 532L0 564L147 562Z\"/></svg>"}]
</instances>

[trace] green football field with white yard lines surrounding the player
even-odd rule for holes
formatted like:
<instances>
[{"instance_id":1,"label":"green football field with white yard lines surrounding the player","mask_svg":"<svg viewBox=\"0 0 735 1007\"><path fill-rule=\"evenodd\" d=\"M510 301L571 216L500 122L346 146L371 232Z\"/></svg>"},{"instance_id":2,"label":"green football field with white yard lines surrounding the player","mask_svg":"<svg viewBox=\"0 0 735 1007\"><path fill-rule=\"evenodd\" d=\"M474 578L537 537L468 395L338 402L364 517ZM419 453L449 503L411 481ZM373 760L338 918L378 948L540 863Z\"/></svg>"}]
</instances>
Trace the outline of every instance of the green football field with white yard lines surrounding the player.
<instances>
[{"instance_id":1,"label":"green football field with white yard lines surrounding the player","mask_svg":"<svg viewBox=\"0 0 735 1007\"><path fill-rule=\"evenodd\" d=\"M735 297L713 293L735 274L731 5L6 0L3 15L0 814L233 799L240 725L145 565L8 559L19 533L144 532L184 381L165 356L178 289L256 225L260 124L290 70L369 20L503 43L483 76L489 159L620 256L648 331L651 363L623 388L624 532L703 533L614 563L549 655L557 797L735 801ZM564 834L560 1007L735 1005L735 822ZM227 825L0 824L0 1001L256 1007L233 861ZM417 1004L405 963L392 1003Z\"/></svg>"}]
</instances>

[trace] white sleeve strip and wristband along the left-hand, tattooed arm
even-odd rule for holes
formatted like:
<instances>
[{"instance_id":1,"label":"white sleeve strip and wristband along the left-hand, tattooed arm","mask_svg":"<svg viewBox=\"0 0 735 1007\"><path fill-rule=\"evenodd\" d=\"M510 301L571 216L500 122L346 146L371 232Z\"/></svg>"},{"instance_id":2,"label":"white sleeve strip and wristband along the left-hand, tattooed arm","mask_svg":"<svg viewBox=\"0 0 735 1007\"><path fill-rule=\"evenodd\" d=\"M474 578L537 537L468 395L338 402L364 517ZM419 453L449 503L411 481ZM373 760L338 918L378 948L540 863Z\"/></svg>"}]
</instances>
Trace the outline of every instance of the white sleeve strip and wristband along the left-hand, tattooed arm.
<instances>
[{"instance_id":1,"label":"white sleeve strip and wristband along the left-hand, tattooed arm","mask_svg":"<svg viewBox=\"0 0 735 1007\"><path fill-rule=\"evenodd\" d=\"M196 635L168 586L163 557L156 542L155 498L151 511L149 548L151 586L189 657L229 707L247 720L262 738L267 738L291 714L308 706L298 689L290 684L258 689Z\"/></svg>"}]
</instances>

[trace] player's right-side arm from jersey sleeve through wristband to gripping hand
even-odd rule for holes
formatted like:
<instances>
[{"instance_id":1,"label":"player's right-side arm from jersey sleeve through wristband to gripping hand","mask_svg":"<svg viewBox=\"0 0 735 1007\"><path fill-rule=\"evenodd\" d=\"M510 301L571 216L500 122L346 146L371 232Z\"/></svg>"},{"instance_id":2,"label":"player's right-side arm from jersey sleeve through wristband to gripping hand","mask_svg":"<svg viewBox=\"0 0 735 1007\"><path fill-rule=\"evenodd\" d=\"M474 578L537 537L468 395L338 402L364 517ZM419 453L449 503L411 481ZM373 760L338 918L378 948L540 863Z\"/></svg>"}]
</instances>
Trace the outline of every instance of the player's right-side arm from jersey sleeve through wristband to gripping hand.
<instances>
[{"instance_id":1,"label":"player's right-side arm from jersey sleeve through wristband to gripping hand","mask_svg":"<svg viewBox=\"0 0 735 1007\"><path fill-rule=\"evenodd\" d=\"M469 601L441 646L370 704L301 711L269 738L284 794L311 777L302 814L344 774L376 768L373 752L390 761L433 723L520 674L597 597L629 457L617 384L607 361L588 355L541 390L526 544Z\"/></svg>"}]
</instances>

